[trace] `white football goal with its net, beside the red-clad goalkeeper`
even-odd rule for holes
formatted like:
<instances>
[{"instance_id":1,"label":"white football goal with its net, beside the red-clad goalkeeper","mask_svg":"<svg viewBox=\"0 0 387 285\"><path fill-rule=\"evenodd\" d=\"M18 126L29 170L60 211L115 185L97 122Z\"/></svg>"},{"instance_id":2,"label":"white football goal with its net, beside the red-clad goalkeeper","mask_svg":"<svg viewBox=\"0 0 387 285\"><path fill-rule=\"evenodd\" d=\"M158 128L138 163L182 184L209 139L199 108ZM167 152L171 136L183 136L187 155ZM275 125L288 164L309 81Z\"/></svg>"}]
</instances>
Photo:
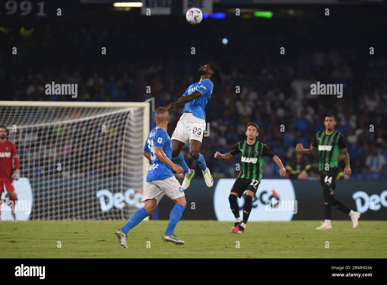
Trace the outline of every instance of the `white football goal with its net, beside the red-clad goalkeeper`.
<instances>
[{"instance_id":1,"label":"white football goal with its net, beside the red-clad goalkeeper","mask_svg":"<svg viewBox=\"0 0 387 285\"><path fill-rule=\"evenodd\" d=\"M31 192L28 219L127 219L143 206L149 103L0 105L20 159L15 209Z\"/></svg>"}]
</instances>

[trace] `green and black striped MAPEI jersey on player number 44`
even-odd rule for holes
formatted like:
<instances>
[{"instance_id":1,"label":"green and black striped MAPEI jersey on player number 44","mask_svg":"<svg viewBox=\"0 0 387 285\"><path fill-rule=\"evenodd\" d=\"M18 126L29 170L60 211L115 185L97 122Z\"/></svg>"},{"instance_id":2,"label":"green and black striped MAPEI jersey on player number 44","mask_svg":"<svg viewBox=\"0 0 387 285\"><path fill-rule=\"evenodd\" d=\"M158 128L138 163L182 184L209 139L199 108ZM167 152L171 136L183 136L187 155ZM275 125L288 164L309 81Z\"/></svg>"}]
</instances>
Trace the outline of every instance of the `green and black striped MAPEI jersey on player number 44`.
<instances>
[{"instance_id":1,"label":"green and black striped MAPEI jersey on player number 44","mask_svg":"<svg viewBox=\"0 0 387 285\"><path fill-rule=\"evenodd\" d=\"M337 168L337 156L339 148L345 149L346 140L338 131L334 131L330 135L326 135L325 131L319 131L313 137L311 145L319 150L319 171L325 170L325 166L329 164L329 169Z\"/></svg>"}]
</instances>

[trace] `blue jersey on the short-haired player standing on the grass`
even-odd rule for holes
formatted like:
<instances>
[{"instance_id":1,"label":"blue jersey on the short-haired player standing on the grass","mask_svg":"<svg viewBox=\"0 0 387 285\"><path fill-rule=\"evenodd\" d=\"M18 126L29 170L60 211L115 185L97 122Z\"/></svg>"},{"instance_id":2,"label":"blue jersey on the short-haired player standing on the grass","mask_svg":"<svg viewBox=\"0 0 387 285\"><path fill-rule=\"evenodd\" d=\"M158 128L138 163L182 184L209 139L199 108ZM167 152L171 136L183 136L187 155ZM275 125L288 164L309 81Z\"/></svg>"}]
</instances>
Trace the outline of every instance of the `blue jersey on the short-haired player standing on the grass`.
<instances>
[{"instance_id":1,"label":"blue jersey on the short-haired player standing on the grass","mask_svg":"<svg viewBox=\"0 0 387 285\"><path fill-rule=\"evenodd\" d=\"M154 154L155 147L162 149L169 159L172 158L171 138L163 128L153 128L144 145L144 152L149 152L151 155L151 166L149 166L146 176L147 182L163 180L173 176L171 166L161 162Z\"/></svg>"}]
</instances>

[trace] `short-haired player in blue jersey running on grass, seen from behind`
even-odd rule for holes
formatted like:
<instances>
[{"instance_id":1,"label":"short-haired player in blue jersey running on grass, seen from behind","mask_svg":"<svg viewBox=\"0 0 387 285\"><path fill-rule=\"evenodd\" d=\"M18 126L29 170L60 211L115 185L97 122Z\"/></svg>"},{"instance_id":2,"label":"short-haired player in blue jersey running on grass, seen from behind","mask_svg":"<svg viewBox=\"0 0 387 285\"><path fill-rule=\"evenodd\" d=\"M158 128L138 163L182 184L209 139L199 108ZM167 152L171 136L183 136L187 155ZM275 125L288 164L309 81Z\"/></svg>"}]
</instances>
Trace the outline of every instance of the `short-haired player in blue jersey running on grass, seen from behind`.
<instances>
[{"instance_id":1,"label":"short-haired player in blue jersey running on grass, seen from behind","mask_svg":"<svg viewBox=\"0 0 387 285\"><path fill-rule=\"evenodd\" d=\"M171 171L173 169L173 171L179 174L183 172L183 168L171 161L171 139L167 133L169 119L168 111L164 107L156 109L154 113L156 128L153 128L149 133L144 151L142 152L151 162L146 178L147 187L142 199L145 205L135 211L125 226L117 229L115 232L123 248L128 248L126 244L128 231L153 213L164 194L175 202L175 207L171 211L163 240L164 242L173 242L174 244L184 244L184 241L178 239L173 233L175 226L182 217L185 206L187 206L187 202L185 201L183 188Z\"/></svg>"}]
</instances>

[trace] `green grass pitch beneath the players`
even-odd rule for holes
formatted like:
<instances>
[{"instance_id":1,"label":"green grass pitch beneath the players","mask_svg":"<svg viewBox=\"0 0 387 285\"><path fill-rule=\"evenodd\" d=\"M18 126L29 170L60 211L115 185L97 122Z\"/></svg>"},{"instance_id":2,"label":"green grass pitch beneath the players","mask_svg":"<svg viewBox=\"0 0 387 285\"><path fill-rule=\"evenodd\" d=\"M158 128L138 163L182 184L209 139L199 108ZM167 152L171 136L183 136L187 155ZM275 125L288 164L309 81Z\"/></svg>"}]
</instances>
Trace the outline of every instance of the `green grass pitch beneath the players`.
<instances>
[{"instance_id":1,"label":"green grass pitch beneath the players","mask_svg":"<svg viewBox=\"0 0 387 285\"><path fill-rule=\"evenodd\" d=\"M315 230L320 221L249 222L242 234L232 222L180 221L184 245L163 242L168 221L143 221L118 244L116 221L0 222L0 257L6 258L385 258L387 221L332 221L332 230ZM58 248L60 241L61 248ZM329 248L327 247L329 242ZM150 245L150 248L149 248ZM239 245L239 248L237 248Z\"/></svg>"}]
</instances>

